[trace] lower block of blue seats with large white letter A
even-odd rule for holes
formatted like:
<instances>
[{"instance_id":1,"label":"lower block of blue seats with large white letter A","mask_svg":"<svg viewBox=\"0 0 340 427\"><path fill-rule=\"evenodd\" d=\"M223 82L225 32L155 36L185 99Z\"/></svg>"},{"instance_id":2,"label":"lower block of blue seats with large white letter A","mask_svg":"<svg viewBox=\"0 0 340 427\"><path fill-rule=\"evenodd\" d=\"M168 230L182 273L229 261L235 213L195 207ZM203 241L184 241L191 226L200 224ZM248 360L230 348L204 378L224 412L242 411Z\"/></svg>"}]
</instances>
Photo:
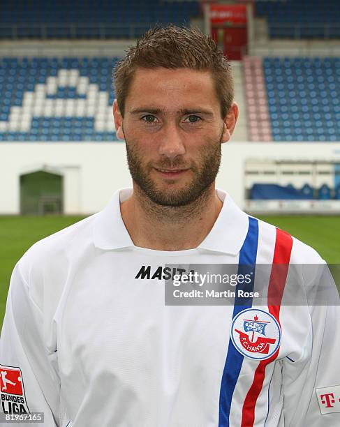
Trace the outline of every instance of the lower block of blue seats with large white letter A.
<instances>
[{"instance_id":1,"label":"lower block of blue seats with large white letter A","mask_svg":"<svg viewBox=\"0 0 340 427\"><path fill-rule=\"evenodd\" d=\"M117 140L118 58L0 59L0 141Z\"/></svg>"}]
</instances>

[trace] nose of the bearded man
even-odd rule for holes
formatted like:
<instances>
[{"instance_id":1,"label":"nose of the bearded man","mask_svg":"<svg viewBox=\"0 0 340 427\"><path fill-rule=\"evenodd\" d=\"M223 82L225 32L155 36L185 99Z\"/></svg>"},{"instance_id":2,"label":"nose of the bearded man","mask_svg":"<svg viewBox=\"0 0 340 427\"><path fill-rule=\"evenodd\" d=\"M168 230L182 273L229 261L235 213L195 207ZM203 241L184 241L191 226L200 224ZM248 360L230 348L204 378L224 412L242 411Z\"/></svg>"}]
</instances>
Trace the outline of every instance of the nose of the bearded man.
<instances>
[{"instance_id":1,"label":"nose of the bearded man","mask_svg":"<svg viewBox=\"0 0 340 427\"><path fill-rule=\"evenodd\" d=\"M184 135L177 123L167 123L163 127L160 137L158 153L161 156L174 159L185 154Z\"/></svg>"}]
</instances>

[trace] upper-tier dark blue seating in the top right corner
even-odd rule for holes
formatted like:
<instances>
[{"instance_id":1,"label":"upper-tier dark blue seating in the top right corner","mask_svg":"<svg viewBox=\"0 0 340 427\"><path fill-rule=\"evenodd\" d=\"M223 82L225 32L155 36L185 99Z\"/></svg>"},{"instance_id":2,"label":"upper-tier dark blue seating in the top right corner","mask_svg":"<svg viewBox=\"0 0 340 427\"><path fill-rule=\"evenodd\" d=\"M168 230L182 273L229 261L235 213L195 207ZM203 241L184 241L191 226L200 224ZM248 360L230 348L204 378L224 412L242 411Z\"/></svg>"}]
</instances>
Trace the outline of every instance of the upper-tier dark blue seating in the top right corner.
<instances>
[{"instance_id":1,"label":"upper-tier dark blue seating in the top right corner","mask_svg":"<svg viewBox=\"0 0 340 427\"><path fill-rule=\"evenodd\" d=\"M339 38L338 0L260 0L256 15L266 17L270 38Z\"/></svg>"}]
</instances>

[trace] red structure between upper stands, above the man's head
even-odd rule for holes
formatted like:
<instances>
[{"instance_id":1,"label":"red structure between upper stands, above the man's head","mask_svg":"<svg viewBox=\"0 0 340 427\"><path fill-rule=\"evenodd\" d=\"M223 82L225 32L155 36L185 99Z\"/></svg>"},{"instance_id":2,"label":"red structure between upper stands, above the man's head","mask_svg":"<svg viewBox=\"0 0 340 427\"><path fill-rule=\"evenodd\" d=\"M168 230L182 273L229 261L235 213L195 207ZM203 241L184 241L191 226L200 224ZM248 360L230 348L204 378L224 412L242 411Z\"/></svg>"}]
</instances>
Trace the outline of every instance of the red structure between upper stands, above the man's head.
<instances>
[{"instance_id":1,"label":"red structure between upper stands, above the man's head","mask_svg":"<svg viewBox=\"0 0 340 427\"><path fill-rule=\"evenodd\" d=\"M209 3L212 38L231 60L242 59L248 43L246 4Z\"/></svg>"}]
</instances>

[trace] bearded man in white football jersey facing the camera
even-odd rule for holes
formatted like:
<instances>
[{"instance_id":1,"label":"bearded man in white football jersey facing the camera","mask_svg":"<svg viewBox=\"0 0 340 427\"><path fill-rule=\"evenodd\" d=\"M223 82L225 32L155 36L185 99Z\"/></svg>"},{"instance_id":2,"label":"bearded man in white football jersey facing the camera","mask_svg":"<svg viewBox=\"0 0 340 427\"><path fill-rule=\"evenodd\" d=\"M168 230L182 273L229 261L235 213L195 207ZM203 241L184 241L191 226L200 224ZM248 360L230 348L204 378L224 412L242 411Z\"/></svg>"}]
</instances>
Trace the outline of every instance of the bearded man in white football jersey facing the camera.
<instances>
[{"instance_id":1,"label":"bearded man in white football jersey facing the camera","mask_svg":"<svg viewBox=\"0 0 340 427\"><path fill-rule=\"evenodd\" d=\"M323 261L214 186L238 114L228 61L198 31L156 28L114 84L133 188L15 266L0 369L22 389L2 410L49 427L339 426L338 307L281 304L288 263ZM249 292L270 265L265 304L165 305L165 279L232 264ZM318 287L299 271L296 294Z\"/></svg>"}]
</instances>

